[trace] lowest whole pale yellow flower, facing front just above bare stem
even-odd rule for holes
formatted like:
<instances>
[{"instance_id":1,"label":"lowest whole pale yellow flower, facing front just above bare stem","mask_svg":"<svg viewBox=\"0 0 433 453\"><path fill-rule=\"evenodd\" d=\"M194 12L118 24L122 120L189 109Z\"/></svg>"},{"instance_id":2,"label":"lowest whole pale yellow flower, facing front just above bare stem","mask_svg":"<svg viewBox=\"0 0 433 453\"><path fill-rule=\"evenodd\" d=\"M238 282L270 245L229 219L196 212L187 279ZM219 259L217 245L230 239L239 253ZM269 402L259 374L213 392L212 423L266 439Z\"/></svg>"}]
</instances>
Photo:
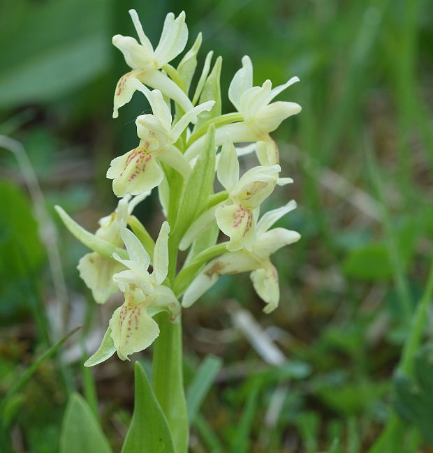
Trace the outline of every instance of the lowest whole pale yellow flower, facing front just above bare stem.
<instances>
[{"instance_id":1,"label":"lowest whole pale yellow flower, facing front just above bare stem","mask_svg":"<svg viewBox=\"0 0 433 453\"><path fill-rule=\"evenodd\" d=\"M168 233L170 226L164 222L156 239L149 274L150 257L140 240L127 228L121 236L129 259L113 254L113 258L126 270L115 274L113 282L124 293L125 301L112 315L100 348L85 363L92 366L103 362L117 351L120 359L150 346L159 336L159 326L152 318L156 313L168 311L171 320L177 320L179 302L173 291L163 285L168 273Z\"/></svg>"}]
</instances>

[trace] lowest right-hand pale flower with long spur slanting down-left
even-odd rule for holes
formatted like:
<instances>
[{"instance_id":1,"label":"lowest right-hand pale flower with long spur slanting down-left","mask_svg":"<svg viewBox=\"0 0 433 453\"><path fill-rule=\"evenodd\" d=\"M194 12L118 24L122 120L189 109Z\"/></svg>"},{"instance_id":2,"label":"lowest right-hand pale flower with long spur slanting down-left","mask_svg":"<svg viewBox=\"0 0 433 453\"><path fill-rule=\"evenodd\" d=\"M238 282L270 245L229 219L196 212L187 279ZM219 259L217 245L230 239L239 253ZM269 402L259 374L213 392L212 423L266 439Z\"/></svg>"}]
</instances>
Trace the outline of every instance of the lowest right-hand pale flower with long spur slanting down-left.
<instances>
[{"instance_id":1,"label":"lowest right-hand pale flower with long spur slanting down-left","mask_svg":"<svg viewBox=\"0 0 433 453\"><path fill-rule=\"evenodd\" d=\"M250 278L256 293L263 299L266 306L265 313L270 313L278 306L279 283L277 269L272 265L270 255L279 248L293 244L300 239L300 234L286 228L270 227L288 211L295 209L296 203L292 200L284 207L268 211L260 218L256 228L256 239L251 251L246 249L223 253L211 260L196 276L186 289L182 299L182 306L191 306L214 285L223 274L238 274L251 272Z\"/></svg>"}]
</instances>

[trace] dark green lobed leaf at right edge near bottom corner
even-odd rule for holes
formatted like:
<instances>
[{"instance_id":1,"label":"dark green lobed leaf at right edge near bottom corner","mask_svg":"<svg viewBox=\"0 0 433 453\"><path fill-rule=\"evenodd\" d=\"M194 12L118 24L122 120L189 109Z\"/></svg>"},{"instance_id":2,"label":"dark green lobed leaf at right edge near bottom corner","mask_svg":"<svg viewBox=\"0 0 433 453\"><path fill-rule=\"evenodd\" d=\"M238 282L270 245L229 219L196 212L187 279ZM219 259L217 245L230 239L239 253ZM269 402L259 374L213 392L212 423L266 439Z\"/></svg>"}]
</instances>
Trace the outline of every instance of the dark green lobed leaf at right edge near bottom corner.
<instances>
[{"instance_id":1,"label":"dark green lobed leaf at right edge near bottom corner","mask_svg":"<svg viewBox=\"0 0 433 453\"><path fill-rule=\"evenodd\" d=\"M413 423L427 442L433 443L433 345L421 350L415 359L413 379L395 377L395 406L407 422Z\"/></svg>"}]
</instances>

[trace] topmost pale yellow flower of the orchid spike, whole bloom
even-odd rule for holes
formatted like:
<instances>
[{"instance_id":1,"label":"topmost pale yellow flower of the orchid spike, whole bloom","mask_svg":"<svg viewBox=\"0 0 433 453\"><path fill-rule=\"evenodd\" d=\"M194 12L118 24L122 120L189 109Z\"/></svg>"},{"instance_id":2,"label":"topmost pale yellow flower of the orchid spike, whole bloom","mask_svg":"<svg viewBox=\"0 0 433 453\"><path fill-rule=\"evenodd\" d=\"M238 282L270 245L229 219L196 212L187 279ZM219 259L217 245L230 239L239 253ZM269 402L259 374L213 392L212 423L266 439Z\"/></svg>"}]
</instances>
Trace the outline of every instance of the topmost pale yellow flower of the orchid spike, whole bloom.
<instances>
[{"instance_id":1,"label":"topmost pale yellow flower of the orchid spike, whole bloom","mask_svg":"<svg viewBox=\"0 0 433 453\"><path fill-rule=\"evenodd\" d=\"M119 116L118 110L122 105L131 101L136 89L133 80L140 80L140 82L152 88L159 89L165 96L176 101L185 112L191 110L193 105L188 96L160 70L184 50L188 40L188 28L185 24L184 11L176 18L173 13L168 13L161 33L161 39L155 50L142 29L137 12L129 10L129 14L133 20L140 43L131 36L115 35L112 38L112 43L124 54L126 64L132 68L129 73L122 75L119 82L117 82L113 118Z\"/></svg>"}]
</instances>

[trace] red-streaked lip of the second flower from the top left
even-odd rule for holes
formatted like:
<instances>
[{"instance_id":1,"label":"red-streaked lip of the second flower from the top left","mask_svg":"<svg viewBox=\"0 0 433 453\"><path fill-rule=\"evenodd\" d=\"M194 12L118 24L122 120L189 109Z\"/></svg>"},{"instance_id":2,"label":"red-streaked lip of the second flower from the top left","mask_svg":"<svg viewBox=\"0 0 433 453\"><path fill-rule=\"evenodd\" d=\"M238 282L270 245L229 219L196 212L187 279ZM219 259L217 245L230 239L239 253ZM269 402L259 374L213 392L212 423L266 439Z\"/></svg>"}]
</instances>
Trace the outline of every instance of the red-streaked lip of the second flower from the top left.
<instances>
[{"instance_id":1,"label":"red-streaked lip of the second flower from the top left","mask_svg":"<svg viewBox=\"0 0 433 453\"><path fill-rule=\"evenodd\" d=\"M140 146L113 159L107 177L113 180L113 192L123 197L126 193L140 195L152 190L161 183L163 171L152 154Z\"/></svg>"}]
</instances>

